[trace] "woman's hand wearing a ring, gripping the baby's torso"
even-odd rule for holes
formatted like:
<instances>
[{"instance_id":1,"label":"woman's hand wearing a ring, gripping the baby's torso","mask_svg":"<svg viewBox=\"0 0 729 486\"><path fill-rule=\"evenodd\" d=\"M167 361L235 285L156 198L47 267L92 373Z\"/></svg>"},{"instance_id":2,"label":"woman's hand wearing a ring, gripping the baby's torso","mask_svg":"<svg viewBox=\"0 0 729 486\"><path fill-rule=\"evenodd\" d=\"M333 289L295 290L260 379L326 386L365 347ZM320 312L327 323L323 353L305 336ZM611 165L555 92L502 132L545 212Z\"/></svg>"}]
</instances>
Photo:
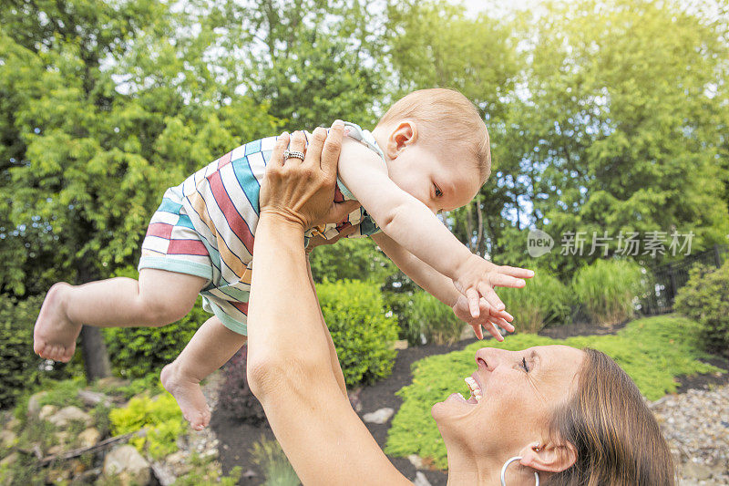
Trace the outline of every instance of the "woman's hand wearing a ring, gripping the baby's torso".
<instances>
[{"instance_id":1,"label":"woman's hand wearing a ring, gripping the baby's torso","mask_svg":"<svg viewBox=\"0 0 729 486\"><path fill-rule=\"evenodd\" d=\"M293 132L291 150L306 153L303 160L283 160L289 145L288 133L276 141L260 193L261 215L269 214L300 225L304 230L324 222L340 222L358 202L334 202L334 183L344 124L337 120L327 136L326 129L313 130L306 147L301 131Z\"/></svg>"}]
</instances>

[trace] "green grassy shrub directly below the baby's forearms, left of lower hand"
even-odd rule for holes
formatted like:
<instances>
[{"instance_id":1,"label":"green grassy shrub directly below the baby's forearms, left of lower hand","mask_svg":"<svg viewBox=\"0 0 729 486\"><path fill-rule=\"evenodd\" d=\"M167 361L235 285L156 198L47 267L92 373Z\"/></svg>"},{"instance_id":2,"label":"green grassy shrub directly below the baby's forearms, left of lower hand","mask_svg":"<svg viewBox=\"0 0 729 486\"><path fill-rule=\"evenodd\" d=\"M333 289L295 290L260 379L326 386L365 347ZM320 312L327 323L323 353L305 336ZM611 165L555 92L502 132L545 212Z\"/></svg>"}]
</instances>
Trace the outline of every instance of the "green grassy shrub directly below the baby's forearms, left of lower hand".
<instances>
[{"instance_id":1,"label":"green grassy shrub directly below the baby's forearms, left of lower hand","mask_svg":"<svg viewBox=\"0 0 729 486\"><path fill-rule=\"evenodd\" d=\"M405 309L406 336L412 344L418 343L420 336L425 336L429 343L452 345L461 336L465 326L453 314L452 308L423 291L413 293L410 305Z\"/></svg>"}]
</instances>

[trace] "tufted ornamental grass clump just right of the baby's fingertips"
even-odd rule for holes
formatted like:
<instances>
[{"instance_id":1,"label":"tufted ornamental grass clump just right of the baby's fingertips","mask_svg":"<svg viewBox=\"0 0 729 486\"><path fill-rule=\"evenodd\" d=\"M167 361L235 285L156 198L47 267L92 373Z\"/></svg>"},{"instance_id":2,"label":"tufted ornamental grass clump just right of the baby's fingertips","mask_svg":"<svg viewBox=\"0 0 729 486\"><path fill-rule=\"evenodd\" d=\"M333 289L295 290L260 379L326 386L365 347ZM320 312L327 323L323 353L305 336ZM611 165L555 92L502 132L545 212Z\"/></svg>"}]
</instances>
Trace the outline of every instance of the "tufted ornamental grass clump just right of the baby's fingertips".
<instances>
[{"instance_id":1,"label":"tufted ornamental grass clump just right of the baby's fingertips","mask_svg":"<svg viewBox=\"0 0 729 486\"><path fill-rule=\"evenodd\" d=\"M498 288L497 292L514 316L517 332L536 333L548 324L570 321L572 293L548 271L537 272L524 288Z\"/></svg>"}]
</instances>

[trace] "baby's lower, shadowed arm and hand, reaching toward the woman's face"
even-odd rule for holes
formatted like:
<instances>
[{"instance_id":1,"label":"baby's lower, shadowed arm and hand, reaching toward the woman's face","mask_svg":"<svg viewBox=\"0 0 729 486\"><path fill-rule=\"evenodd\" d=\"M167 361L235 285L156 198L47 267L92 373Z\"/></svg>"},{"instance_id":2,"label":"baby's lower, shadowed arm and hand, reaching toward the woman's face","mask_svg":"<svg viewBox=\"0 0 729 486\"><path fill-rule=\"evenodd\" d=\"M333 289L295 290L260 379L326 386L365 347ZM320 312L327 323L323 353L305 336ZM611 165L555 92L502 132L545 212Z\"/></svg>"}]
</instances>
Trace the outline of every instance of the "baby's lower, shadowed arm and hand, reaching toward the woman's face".
<instances>
[{"instance_id":1,"label":"baby's lower, shadowed arm and hand, reaching toward the woman's face","mask_svg":"<svg viewBox=\"0 0 729 486\"><path fill-rule=\"evenodd\" d=\"M451 307L460 320L472 326L479 339L483 338L481 326L486 327L488 332L498 341L503 341L504 337L501 336L497 326L506 329L508 332L514 331L514 326L509 324L513 317L508 312L504 310L497 311L487 305L486 300L482 298L479 301L480 314L478 317L473 317L469 312L466 297L456 290L453 282L446 275L439 274L436 269L417 258L413 253L408 252L385 233L375 233L372 235L372 239L395 262L397 267L412 278L416 284Z\"/></svg>"}]
</instances>

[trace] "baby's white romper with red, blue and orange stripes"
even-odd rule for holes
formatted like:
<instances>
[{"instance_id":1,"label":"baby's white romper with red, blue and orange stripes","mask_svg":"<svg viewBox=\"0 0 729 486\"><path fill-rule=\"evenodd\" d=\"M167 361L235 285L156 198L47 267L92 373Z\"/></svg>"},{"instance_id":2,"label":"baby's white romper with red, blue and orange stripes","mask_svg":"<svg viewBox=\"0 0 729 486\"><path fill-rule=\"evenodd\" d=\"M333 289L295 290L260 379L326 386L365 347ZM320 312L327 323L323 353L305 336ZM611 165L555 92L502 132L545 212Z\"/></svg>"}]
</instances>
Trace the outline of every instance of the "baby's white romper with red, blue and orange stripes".
<instances>
[{"instance_id":1,"label":"baby's white romper with red, blue and orange stripes","mask_svg":"<svg viewBox=\"0 0 729 486\"><path fill-rule=\"evenodd\" d=\"M344 125L349 137L375 150L385 163L369 131L354 123ZM259 190L276 139L241 145L165 191L142 243L139 270L155 268L206 278L208 283L200 291L203 308L241 335L247 334ZM337 179L334 202L347 200L354 200L354 195ZM358 229L349 237L380 231L360 207L342 222L309 230L303 243L314 233L334 238L350 226Z\"/></svg>"}]
</instances>

